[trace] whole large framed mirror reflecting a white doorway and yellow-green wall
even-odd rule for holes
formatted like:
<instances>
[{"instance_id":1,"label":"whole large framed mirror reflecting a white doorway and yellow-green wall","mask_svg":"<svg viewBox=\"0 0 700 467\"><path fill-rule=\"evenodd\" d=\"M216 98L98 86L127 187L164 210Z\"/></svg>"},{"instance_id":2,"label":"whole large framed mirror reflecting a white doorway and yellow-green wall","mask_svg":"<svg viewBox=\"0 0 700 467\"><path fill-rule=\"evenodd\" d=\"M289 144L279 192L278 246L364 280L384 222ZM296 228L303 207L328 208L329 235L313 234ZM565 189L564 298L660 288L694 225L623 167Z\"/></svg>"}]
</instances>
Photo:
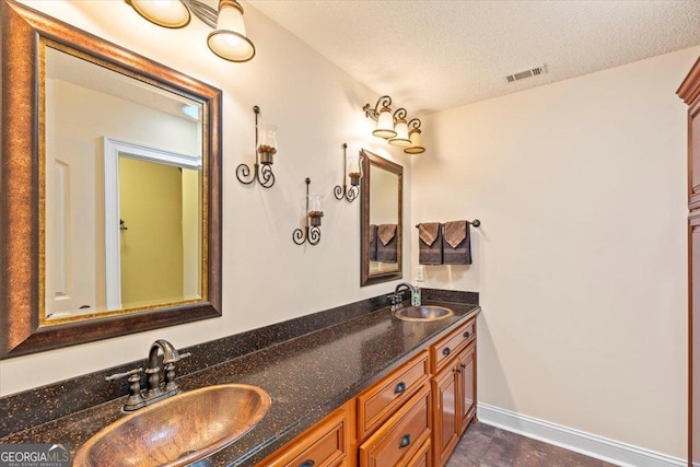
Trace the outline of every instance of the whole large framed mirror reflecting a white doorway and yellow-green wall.
<instances>
[{"instance_id":1,"label":"whole large framed mirror reflecting a white doorway and yellow-green wall","mask_svg":"<svg viewBox=\"0 0 700 467\"><path fill-rule=\"evenodd\" d=\"M0 358L221 316L221 91L0 2Z\"/></svg>"}]
</instances>

